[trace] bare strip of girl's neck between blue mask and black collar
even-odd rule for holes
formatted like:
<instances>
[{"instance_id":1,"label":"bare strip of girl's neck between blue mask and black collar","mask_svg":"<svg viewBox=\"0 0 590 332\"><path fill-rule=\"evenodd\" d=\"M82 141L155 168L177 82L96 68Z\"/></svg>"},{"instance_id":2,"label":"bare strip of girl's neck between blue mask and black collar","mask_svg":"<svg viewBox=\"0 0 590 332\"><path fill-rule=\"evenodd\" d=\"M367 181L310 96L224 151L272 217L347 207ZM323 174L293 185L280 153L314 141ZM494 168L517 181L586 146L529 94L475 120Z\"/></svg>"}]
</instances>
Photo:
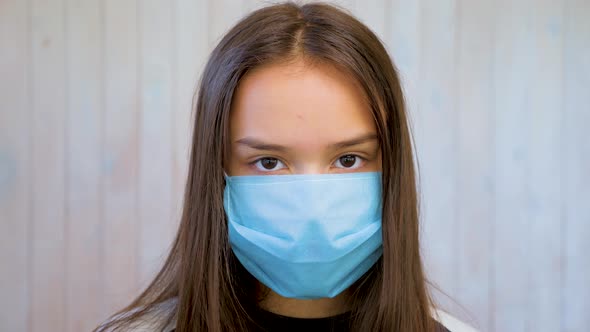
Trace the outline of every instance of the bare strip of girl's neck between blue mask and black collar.
<instances>
[{"instance_id":1,"label":"bare strip of girl's neck between blue mask and black collar","mask_svg":"<svg viewBox=\"0 0 590 332\"><path fill-rule=\"evenodd\" d=\"M259 293L264 292L264 298L258 303L260 308L272 313L295 318L324 318L336 316L350 308L347 303L348 292L344 291L334 298L301 300L283 297L271 289L259 284Z\"/></svg>"}]
</instances>

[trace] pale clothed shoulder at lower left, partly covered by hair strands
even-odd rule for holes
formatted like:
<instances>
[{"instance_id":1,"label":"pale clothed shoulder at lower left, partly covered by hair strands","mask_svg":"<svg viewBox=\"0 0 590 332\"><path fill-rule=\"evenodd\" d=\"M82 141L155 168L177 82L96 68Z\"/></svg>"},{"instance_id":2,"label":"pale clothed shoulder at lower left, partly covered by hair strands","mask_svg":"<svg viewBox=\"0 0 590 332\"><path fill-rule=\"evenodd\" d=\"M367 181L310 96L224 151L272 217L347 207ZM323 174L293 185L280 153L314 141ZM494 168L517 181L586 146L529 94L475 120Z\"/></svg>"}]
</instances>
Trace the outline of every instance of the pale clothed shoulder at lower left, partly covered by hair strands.
<instances>
[{"instance_id":1,"label":"pale clothed shoulder at lower left, partly covered by hair strands","mask_svg":"<svg viewBox=\"0 0 590 332\"><path fill-rule=\"evenodd\" d=\"M152 312L147 313L146 315L142 316L137 321L133 322L129 327L126 327L123 330L113 330L110 328L105 328L105 325L111 321L118 320L125 318L139 310L139 308L130 310L128 312L124 312L117 316L111 317L110 319L106 320L105 322L101 323L101 325L96 329L96 332L170 332L174 331L175 328L175 321L173 320L169 324L165 326L162 330L161 327L164 324L164 320L168 317L168 314L171 311L176 309L177 299L172 298L166 300L156 306L156 309Z\"/></svg>"}]
</instances>

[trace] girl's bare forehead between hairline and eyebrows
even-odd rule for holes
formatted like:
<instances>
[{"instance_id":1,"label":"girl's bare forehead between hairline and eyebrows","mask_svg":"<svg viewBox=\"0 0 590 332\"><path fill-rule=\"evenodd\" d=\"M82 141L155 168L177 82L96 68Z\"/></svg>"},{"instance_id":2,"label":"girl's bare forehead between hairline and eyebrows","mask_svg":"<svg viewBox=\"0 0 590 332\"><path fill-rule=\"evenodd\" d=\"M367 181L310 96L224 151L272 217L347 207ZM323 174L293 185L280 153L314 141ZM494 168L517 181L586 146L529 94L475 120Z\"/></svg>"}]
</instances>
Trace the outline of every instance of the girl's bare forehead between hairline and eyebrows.
<instances>
[{"instance_id":1,"label":"girl's bare forehead between hairline and eyebrows","mask_svg":"<svg viewBox=\"0 0 590 332\"><path fill-rule=\"evenodd\" d=\"M232 141L255 136L285 144L318 144L374 132L362 89L347 74L303 61L246 74L232 101Z\"/></svg>"}]
</instances>

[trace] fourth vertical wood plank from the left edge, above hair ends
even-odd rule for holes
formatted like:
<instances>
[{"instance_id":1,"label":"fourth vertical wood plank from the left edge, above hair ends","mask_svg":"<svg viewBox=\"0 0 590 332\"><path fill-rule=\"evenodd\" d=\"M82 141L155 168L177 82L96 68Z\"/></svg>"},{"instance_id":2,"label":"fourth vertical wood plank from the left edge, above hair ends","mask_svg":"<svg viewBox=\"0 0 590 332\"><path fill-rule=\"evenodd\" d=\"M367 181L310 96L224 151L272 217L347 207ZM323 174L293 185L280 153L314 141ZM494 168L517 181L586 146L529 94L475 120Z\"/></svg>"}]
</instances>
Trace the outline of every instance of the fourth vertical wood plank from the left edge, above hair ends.
<instances>
[{"instance_id":1,"label":"fourth vertical wood plank from the left edge, above hair ends","mask_svg":"<svg viewBox=\"0 0 590 332\"><path fill-rule=\"evenodd\" d=\"M103 319L139 294L137 0L104 2Z\"/></svg>"}]
</instances>

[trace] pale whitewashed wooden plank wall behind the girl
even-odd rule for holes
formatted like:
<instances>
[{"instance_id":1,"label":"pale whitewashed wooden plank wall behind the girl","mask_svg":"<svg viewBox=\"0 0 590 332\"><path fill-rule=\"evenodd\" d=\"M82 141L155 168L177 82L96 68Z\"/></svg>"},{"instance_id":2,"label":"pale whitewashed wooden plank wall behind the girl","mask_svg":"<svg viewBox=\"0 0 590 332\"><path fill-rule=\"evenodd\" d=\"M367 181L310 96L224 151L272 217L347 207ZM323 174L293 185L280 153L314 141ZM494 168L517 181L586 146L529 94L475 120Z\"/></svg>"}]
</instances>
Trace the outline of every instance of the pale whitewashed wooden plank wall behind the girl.
<instances>
[{"instance_id":1,"label":"pale whitewashed wooden plank wall behind the girl","mask_svg":"<svg viewBox=\"0 0 590 332\"><path fill-rule=\"evenodd\" d=\"M438 301L485 331L588 331L590 1L339 3L401 70ZM198 74L261 5L0 0L1 331L88 331L146 285Z\"/></svg>"}]
</instances>

